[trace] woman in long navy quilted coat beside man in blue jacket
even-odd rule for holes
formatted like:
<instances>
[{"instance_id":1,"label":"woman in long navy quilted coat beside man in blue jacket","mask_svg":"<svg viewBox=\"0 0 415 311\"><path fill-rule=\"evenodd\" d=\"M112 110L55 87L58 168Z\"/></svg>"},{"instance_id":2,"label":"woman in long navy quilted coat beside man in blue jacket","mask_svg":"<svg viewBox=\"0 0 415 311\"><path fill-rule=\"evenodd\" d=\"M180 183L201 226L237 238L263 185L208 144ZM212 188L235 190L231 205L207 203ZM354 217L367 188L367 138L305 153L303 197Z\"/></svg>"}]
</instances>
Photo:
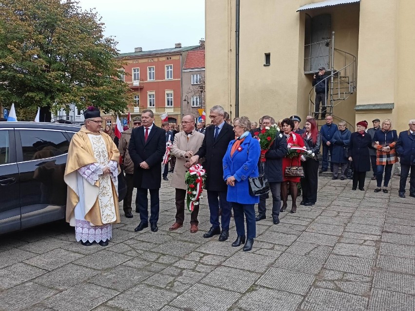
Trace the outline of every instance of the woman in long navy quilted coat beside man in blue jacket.
<instances>
[{"instance_id":1,"label":"woman in long navy quilted coat beside man in blue jacket","mask_svg":"<svg viewBox=\"0 0 415 311\"><path fill-rule=\"evenodd\" d=\"M331 155L331 163L333 163L333 178L339 177L339 166L341 167L340 179L344 180L344 173L347 167L347 158L349 157L347 149L350 144L350 135L352 133L346 128L346 122L339 122L339 130L334 132L331 145L333 145L333 154Z\"/></svg>"}]
</instances>

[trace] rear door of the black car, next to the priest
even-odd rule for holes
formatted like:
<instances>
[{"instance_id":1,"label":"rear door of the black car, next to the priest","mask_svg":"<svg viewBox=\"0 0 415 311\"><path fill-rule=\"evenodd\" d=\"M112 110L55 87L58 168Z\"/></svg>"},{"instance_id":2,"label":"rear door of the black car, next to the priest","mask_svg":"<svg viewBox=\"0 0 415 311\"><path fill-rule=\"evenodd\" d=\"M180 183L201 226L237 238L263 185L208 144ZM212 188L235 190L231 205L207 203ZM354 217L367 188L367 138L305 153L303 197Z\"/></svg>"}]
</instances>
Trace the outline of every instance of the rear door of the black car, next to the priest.
<instances>
[{"instance_id":1,"label":"rear door of the black car, next to the priest","mask_svg":"<svg viewBox=\"0 0 415 311\"><path fill-rule=\"evenodd\" d=\"M16 142L21 228L64 218L66 184L63 175L69 148L64 132L19 128Z\"/></svg>"}]
</instances>

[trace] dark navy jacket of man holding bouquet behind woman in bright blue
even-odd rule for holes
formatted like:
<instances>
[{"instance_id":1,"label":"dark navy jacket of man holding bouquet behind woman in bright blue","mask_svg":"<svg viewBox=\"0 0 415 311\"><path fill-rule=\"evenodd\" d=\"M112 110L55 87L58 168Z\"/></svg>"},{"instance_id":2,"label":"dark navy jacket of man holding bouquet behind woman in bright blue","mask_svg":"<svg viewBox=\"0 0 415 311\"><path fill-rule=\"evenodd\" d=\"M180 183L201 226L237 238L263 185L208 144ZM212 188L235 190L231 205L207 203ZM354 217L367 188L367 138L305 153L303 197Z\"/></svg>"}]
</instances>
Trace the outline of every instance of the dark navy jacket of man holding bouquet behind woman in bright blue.
<instances>
[{"instance_id":1,"label":"dark navy jacket of man holding bouquet behind woman in bright blue","mask_svg":"<svg viewBox=\"0 0 415 311\"><path fill-rule=\"evenodd\" d=\"M287 139L285 136L275 137L272 146L265 153L264 174L270 183L281 183L283 181L283 157L288 152Z\"/></svg>"}]
</instances>

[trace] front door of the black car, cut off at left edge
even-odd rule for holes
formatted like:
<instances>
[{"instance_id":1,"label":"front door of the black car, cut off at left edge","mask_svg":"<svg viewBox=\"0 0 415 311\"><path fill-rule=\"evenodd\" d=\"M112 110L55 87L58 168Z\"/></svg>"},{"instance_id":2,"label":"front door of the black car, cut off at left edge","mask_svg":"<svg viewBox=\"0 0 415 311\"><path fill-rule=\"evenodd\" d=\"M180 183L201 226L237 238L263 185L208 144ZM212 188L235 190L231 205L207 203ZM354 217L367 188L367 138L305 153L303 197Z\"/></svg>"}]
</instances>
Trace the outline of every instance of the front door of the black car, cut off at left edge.
<instances>
[{"instance_id":1,"label":"front door of the black car, cut off at left edge","mask_svg":"<svg viewBox=\"0 0 415 311\"><path fill-rule=\"evenodd\" d=\"M19 170L13 128L0 128L0 234L20 229Z\"/></svg>"}]
</instances>

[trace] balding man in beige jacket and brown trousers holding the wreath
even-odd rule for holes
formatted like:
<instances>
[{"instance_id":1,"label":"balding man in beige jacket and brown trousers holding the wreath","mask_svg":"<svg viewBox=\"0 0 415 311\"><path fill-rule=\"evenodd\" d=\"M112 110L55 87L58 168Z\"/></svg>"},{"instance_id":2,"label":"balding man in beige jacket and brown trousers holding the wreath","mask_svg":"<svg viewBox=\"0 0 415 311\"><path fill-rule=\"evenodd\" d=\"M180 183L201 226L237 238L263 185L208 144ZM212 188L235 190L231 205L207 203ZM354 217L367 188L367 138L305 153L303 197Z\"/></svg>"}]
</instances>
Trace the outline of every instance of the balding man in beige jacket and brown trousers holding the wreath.
<instances>
[{"instance_id":1,"label":"balding man in beige jacket and brown trousers holding the wreath","mask_svg":"<svg viewBox=\"0 0 415 311\"><path fill-rule=\"evenodd\" d=\"M185 174L189 171L189 159L202 146L205 135L195 130L194 117L185 115L182 118L183 131L174 135L173 146L171 153L176 157L176 165L174 167L173 179L171 186L176 188L176 221L169 230L177 230L183 227L185 221L185 200L186 191L188 189L185 183ZM199 205L195 205L190 215L190 232L196 233L199 221L197 215L199 214Z\"/></svg>"}]
</instances>

